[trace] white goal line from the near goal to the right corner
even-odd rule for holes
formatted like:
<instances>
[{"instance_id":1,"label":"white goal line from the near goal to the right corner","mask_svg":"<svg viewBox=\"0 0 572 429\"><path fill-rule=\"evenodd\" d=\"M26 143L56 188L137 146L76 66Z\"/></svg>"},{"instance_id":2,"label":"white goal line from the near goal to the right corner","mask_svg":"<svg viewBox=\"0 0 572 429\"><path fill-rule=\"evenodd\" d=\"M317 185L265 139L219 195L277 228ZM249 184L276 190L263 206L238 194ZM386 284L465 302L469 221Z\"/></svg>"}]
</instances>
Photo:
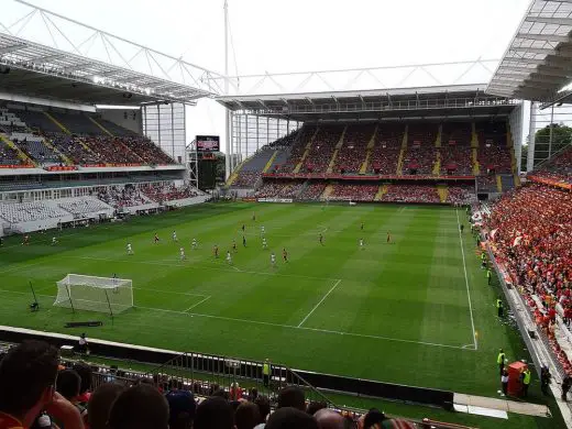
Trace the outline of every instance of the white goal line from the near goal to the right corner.
<instances>
[{"instance_id":1,"label":"white goal line from the near goal to the right corner","mask_svg":"<svg viewBox=\"0 0 572 429\"><path fill-rule=\"evenodd\" d=\"M144 310L152 310L152 311L169 312L169 314L175 314L175 315L204 317L204 318L216 319L216 320L227 320L227 321L240 322L240 323L262 324L262 326L267 326L267 327L297 329L297 330L311 331L311 332L331 333L331 334L337 334L337 336L369 338L369 339L372 339L372 340L395 341L395 342L404 342L404 343L410 343L410 344L422 344L422 345L430 345L430 346L446 348L446 349L457 349L457 350L474 351L474 349L472 349L472 348L469 349L465 345L461 346L461 345L440 344L440 343L436 343L436 342L404 340L404 339L392 338L392 337L370 336L370 334L365 334L365 333L353 333L353 332L334 331L334 330L330 330L330 329L298 327L298 326L295 326L295 324L273 323L273 322L265 322L265 321L258 321L258 320L252 320L252 319L238 319L238 318L233 318L233 317L204 315L204 314L200 314L200 312L187 312L187 311L178 311L178 310L167 310L167 309L164 309L164 308L141 307L141 306L135 306L135 308L142 308ZM472 344L470 344L470 345L472 345Z\"/></svg>"}]
</instances>

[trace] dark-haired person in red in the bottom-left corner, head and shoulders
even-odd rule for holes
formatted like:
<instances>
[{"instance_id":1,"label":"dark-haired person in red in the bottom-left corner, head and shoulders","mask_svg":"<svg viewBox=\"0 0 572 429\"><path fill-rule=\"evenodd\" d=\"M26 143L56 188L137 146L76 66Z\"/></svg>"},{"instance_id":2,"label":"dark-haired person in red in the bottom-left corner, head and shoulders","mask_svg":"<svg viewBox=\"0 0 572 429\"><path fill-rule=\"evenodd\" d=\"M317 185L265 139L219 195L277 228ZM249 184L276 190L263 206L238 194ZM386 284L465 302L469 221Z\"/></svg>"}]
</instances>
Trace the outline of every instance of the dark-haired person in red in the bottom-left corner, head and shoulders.
<instances>
[{"instance_id":1,"label":"dark-haired person in red in the bottom-left corner, head and shoulders","mask_svg":"<svg viewBox=\"0 0 572 429\"><path fill-rule=\"evenodd\" d=\"M55 392L59 354L43 341L10 349L0 364L0 429L28 429L45 410L66 429L84 429L78 409Z\"/></svg>"}]
</instances>

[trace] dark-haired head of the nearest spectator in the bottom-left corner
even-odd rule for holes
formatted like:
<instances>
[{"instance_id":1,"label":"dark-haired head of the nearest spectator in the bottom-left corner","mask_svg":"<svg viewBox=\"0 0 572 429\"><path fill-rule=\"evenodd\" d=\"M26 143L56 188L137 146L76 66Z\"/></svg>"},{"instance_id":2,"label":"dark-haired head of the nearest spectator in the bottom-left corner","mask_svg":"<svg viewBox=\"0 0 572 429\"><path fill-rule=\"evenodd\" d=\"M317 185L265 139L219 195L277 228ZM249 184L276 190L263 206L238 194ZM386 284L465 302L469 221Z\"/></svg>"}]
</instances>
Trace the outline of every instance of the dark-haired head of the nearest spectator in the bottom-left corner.
<instances>
[{"instance_id":1,"label":"dark-haired head of the nearest spectator in the bottom-left corner","mask_svg":"<svg viewBox=\"0 0 572 429\"><path fill-rule=\"evenodd\" d=\"M43 341L24 341L0 363L0 411L30 426L54 396L58 351Z\"/></svg>"}]
</instances>

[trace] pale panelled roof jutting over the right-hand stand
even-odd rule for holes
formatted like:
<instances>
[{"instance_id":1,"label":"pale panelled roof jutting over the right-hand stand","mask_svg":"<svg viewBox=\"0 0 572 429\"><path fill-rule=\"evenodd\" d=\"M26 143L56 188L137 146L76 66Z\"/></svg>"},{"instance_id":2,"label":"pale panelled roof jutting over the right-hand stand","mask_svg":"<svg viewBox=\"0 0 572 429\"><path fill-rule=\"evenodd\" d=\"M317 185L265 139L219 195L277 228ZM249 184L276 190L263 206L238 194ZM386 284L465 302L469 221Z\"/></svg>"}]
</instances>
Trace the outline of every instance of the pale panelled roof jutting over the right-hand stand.
<instances>
[{"instance_id":1,"label":"pale panelled roof jutting over the right-hand stand","mask_svg":"<svg viewBox=\"0 0 572 429\"><path fill-rule=\"evenodd\" d=\"M486 92L544 102L571 95L571 32L572 0L534 0Z\"/></svg>"}]
</instances>

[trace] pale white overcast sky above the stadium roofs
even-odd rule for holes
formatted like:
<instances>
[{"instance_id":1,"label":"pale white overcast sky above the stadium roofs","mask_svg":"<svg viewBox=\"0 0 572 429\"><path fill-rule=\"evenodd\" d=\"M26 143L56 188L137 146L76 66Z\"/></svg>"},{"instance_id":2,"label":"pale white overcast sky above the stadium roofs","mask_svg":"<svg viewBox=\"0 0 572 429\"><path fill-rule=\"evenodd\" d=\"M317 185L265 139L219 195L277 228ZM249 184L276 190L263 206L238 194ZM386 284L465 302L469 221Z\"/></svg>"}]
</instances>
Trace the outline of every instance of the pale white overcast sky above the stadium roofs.
<instances>
[{"instance_id":1,"label":"pale white overcast sky above the stadium roofs","mask_svg":"<svg viewBox=\"0 0 572 429\"><path fill-rule=\"evenodd\" d=\"M223 73L223 0L29 1ZM529 0L228 2L231 75L501 59L530 3ZM15 22L29 11L13 0L2 0L2 9L0 22L4 24ZM33 33L34 26L41 25L37 22L26 32ZM35 36L47 37L40 32ZM72 34L78 41L82 41L81 36ZM396 72L399 73L405 72ZM447 80L453 79L453 75L446 70L441 81L451 84ZM477 75L468 78L483 80ZM246 78L241 81L243 91L252 89L255 82ZM415 86L415 78L408 84ZM305 90L312 90L312 85L310 81ZM223 136L224 112L217 102L200 100L197 107L188 109L187 116L189 139L196 134Z\"/></svg>"}]
</instances>

